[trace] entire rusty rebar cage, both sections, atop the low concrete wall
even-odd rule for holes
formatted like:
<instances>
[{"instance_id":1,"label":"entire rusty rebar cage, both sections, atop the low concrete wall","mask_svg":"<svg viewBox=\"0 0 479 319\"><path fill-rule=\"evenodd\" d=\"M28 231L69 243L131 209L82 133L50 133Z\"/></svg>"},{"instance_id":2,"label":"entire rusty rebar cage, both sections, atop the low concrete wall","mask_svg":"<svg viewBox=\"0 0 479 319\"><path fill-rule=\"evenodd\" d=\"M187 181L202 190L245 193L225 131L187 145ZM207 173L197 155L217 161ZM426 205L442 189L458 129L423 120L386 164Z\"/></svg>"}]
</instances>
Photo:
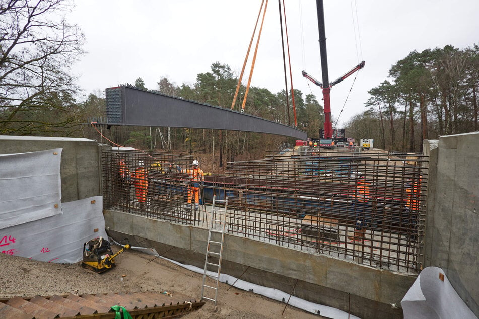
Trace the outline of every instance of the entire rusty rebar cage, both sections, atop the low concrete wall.
<instances>
[{"instance_id":1,"label":"entire rusty rebar cage, both sections, atop the low concrete wall","mask_svg":"<svg viewBox=\"0 0 479 319\"><path fill-rule=\"evenodd\" d=\"M143 162L145 202L135 195L141 186L122 178L119 161L129 171ZM194 224L194 213L186 206L188 177L179 169L191 161L169 153L104 151L105 208ZM211 205L213 195L228 196L230 234L381 269L419 272L427 164L428 157L419 154L269 152L264 160L228 163L225 175L205 176L201 209Z\"/></svg>"}]
</instances>

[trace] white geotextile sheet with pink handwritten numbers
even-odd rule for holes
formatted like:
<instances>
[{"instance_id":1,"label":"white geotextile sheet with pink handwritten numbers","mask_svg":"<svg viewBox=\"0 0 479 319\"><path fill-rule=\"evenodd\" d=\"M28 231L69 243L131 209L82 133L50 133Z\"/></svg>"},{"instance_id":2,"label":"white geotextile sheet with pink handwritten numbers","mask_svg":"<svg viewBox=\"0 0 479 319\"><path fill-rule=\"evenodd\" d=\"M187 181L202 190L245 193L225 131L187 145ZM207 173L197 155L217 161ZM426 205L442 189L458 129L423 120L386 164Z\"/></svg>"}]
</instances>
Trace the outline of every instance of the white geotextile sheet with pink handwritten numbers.
<instances>
[{"instance_id":1,"label":"white geotextile sheet with pink handwritten numbers","mask_svg":"<svg viewBox=\"0 0 479 319\"><path fill-rule=\"evenodd\" d=\"M60 215L0 229L0 251L39 261L73 264L82 260L85 242L99 236L108 238L102 196L62 203L62 209Z\"/></svg>"}]
</instances>

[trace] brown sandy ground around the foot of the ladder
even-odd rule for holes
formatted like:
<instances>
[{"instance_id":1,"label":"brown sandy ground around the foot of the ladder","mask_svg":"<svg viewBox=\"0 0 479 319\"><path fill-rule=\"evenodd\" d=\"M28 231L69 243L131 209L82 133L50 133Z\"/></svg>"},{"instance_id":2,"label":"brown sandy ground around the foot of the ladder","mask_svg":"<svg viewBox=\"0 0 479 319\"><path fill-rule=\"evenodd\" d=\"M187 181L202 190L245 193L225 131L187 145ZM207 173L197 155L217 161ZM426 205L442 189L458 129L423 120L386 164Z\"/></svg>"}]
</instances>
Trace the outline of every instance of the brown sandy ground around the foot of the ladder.
<instances>
[{"instance_id":1,"label":"brown sandy ground around the foot of the ladder","mask_svg":"<svg viewBox=\"0 0 479 319\"><path fill-rule=\"evenodd\" d=\"M113 251L119 250L113 246ZM128 250L115 258L117 266L96 274L76 264L39 262L0 254L0 298L49 296L66 292L117 293L140 291L180 292L199 300L202 274L143 252ZM126 275L123 277L123 275ZM220 283L218 302L206 301L201 309L184 318L318 318L249 291ZM284 313L283 313L284 310Z\"/></svg>"}]
</instances>

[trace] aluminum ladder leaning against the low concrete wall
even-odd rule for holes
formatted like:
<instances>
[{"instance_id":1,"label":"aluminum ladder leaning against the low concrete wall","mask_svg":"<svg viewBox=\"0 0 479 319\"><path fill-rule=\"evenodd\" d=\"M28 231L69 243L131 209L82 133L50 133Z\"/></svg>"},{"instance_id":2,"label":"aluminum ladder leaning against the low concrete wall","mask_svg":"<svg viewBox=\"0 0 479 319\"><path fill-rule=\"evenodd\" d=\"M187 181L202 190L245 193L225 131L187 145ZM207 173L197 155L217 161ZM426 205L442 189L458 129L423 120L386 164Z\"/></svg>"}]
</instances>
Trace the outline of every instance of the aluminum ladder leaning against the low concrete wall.
<instances>
[{"instance_id":1,"label":"aluminum ladder leaning against the low concrete wall","mask_svg":"<svg viewBox=\"0 0 479 319\"><path fill-rule=\"evenodd\" d=\"M220 205L218 205L220 204ZM211 218L208 222L208 246L204 258L203 285L201 287L201 300L207 299L215 302L218 298L218 283L220 282L221 258L223 255L223 240L226 231L226 210L228 209L228 196L226 200L216 199L213 195ZM210 269L210 270L209 270ZM216 274L208 274L208 271ZM214 281L213 284L207 284ZM208 282L208 283L209 283ZM207 291L205 290L207 288ZM215 297L213 298L213 291ZM208 295L209 297L207 297Z\"/></svg>"}]
</instances>

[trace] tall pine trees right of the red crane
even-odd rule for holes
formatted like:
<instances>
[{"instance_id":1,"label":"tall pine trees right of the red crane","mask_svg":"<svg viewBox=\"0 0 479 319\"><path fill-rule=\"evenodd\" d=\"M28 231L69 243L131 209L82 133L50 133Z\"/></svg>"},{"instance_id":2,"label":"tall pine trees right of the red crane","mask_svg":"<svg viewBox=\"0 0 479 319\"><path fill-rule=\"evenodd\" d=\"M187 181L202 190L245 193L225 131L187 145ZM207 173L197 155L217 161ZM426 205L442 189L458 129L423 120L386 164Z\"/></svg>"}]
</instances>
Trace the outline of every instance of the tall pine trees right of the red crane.
<instances>
[{"instance_id":1,"label":"tall pine trees right of the red crane","mask_svg":"<svg viewBox=\"0 0 479 319\"><path fill-rule=\"evenodd\" d=\"M422 151L423 141L478 130L479 47L413 51L368 91L368 110L348 123L388 150Z\"/></svg>"}]
</instances>

